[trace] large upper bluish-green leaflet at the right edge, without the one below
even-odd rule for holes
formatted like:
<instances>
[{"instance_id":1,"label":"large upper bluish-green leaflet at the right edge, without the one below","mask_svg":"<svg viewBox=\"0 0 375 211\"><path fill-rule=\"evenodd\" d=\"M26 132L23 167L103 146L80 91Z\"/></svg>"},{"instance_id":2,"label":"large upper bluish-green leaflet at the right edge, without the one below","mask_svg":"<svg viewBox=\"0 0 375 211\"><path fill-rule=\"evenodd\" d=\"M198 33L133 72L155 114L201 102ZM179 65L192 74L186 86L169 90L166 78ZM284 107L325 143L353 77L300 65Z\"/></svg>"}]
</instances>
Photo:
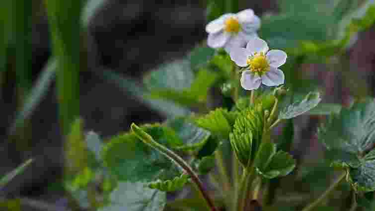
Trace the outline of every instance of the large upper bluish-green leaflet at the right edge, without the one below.
<instances>
[{"instance_id":1,"label":"large upper bluish-green leaflet at the right edge, without the one below","mask_svg":"<svg viewBox=\"0 0 375 211\"><path fill-rule=\"evenodd\" d=\"M319 129L319 139L336 164L360 165L360 156L375 142L375 103L373 99L342 108Z\"/></svg>"}]
</instances>

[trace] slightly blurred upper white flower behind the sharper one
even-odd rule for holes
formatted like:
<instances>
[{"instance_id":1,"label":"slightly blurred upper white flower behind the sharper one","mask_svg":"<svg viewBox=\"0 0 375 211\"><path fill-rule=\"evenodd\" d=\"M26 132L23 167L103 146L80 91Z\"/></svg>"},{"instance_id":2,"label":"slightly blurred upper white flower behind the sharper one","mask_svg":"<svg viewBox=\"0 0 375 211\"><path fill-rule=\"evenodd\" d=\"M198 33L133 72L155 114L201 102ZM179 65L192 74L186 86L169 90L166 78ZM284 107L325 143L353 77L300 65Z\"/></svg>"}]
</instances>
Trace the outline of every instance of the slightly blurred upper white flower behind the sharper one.
<instances>
[{"instance_id":1,"label":"slightly blurred upper white flower behind the sharper one","mask_svg":"<svg viewBox=\"0 0 375 211\"><path fill-rule=\"evenodd\" d=\"M257 37L259 27L260 18L252 9L224 14L207 24L207 45L211 48L225 48L230 52L231 48L244 47L250 39Z\"/></svg>"}]
</instances>

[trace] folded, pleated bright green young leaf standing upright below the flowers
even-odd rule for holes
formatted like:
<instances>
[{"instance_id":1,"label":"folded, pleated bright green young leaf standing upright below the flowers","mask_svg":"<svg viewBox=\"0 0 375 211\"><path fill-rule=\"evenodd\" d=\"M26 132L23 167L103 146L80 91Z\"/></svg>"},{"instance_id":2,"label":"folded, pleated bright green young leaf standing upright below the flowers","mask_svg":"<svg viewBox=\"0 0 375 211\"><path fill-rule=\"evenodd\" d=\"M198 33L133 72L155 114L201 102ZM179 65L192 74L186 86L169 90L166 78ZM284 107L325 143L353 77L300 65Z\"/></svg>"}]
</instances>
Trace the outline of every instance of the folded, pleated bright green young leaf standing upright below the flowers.
<instances>
[{"instance_id":1,"label":"folded, pleated bright green young leaf standing upright below the flowers","mask_svg":"<svg viewBox=\"0 0 375 211\"><path fill-rule=\"evenodd\" d=\"M247 167L255 159L262 141L264 114L261 108L249 108L241 112L229 135L230 144L237 159Z\"/></svg>"}]
</instances>

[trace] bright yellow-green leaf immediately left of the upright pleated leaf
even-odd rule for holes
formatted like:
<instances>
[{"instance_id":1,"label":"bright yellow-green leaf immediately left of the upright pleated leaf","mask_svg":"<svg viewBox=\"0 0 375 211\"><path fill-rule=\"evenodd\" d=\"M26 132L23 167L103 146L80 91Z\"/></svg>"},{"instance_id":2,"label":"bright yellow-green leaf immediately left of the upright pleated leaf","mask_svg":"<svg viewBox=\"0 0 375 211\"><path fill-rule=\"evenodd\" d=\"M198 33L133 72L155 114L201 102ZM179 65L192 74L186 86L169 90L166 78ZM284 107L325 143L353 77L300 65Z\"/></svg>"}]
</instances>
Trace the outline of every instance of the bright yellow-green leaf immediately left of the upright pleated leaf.
<instances>
[{"instance_id":1,"label":"bright yellow-green leaf immediately left of the upright pleated leaf","mask_svg":"<svg viewBox=\"0 0 375 211\"><path fill-rule=\"evenodd\" d=\"M227 139L237 115L237 112L218 108L214 111L210 111L209 114L196 119L195 123L199 127L210 131L214 136Z\"/></svg>"}]
</instances>

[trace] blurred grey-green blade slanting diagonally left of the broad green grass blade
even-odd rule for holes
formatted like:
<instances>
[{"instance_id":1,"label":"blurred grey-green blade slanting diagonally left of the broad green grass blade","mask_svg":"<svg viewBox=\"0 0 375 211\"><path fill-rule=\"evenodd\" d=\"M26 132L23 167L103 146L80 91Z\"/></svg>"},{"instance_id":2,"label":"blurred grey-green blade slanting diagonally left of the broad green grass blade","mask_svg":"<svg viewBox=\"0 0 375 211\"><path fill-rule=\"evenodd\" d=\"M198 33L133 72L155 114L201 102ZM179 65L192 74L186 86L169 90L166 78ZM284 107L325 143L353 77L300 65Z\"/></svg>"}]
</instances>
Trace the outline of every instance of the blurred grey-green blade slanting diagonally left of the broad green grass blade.
<instances>
[{"instance_id":1,"label":"blurred grey-green blade slanting diagonally left of the broad green grass blade","mask_svg":"<svg viewBox=\"0 0 375 211\"><path fill-rule=\"evenodd\" d=\"M26 98L22 109L17 113L13 124L9 128L9 134L22 127L25 119L28 119L41 100L46 96L48 88L51 86L56 75L56 60L50 59L47 65L41 71L34 87L31 89L29 96Z\"/></svg>"}]
</instances>

